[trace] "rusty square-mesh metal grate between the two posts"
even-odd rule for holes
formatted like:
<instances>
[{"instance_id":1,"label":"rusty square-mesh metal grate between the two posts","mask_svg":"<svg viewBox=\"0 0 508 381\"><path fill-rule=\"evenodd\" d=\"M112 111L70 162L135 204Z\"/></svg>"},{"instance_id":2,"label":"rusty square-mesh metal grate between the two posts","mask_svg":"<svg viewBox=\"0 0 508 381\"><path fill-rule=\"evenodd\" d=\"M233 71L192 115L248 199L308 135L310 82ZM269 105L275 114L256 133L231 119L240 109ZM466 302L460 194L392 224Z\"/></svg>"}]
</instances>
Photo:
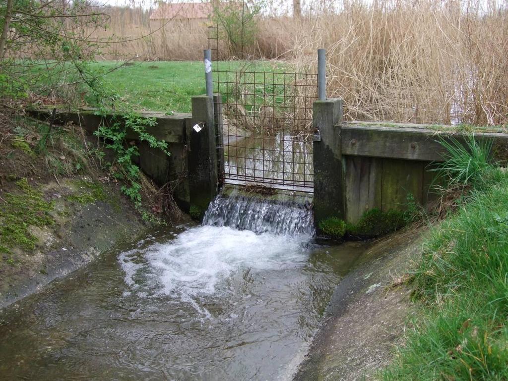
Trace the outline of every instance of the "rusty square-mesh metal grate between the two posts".
<instances>
[{"instance_id":1,"label":"rusty square-mesh metal grate between the two posts","mask_svg":"<svg viewBox=\"0 0 508 381\"><path fill-rule=\"evenodd\" d=\"M212 35L217 39L209 39L209 46L218 50L218 35ZM277 65L214 62L223 178L230 184L312 192L317 75L287 73Z\"/></svg>"}]
</instances>

